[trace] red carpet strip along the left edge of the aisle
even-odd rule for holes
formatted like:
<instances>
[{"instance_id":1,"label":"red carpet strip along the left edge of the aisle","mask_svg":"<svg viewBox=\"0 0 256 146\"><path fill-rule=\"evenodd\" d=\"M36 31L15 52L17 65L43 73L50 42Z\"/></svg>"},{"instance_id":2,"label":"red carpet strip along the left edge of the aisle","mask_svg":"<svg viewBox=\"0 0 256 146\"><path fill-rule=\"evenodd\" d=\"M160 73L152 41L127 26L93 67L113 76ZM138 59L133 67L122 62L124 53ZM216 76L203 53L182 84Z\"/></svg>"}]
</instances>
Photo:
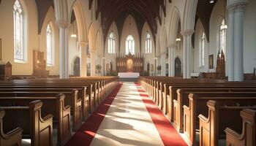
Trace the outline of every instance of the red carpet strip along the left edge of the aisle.
<instances>
[{"instance_id":1,"label":"red carpet strip along the left edge of the aisle","mask_svg":"<svg viewBox=\"0 0 256 146\"><path fill-rule=\"evenodd\" d=\"M97 109L91 114L81 128L72 136L67 142L66 146L89 146L92 139L94 139L97 130L105 118L105 114L108 112L110 105L116 98L116 94L121 88L121 83L116 87L112 93L97 107Z\"/></svg>"}]
</instances>

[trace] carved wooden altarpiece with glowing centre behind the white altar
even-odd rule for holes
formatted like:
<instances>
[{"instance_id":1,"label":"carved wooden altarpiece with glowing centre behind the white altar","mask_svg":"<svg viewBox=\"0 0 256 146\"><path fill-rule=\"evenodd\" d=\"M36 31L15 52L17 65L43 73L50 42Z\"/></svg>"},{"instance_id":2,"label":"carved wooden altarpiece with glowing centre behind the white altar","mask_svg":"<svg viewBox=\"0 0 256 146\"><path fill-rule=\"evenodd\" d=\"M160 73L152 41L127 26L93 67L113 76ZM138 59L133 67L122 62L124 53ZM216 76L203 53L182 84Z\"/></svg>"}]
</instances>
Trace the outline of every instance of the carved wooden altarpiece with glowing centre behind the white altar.
<instances>
[{"instance_id":1,"label":"carved wooden altarpiece with glowing centre behind the white altar","mask_svg":"<svg viewBox=\"0 0 256 146\"><path fill-rule=\"evenodd\" d=\"M143 72L143 57L140 55L121 55L116 58L117 72Z\"/></svg>"}]
</instances>

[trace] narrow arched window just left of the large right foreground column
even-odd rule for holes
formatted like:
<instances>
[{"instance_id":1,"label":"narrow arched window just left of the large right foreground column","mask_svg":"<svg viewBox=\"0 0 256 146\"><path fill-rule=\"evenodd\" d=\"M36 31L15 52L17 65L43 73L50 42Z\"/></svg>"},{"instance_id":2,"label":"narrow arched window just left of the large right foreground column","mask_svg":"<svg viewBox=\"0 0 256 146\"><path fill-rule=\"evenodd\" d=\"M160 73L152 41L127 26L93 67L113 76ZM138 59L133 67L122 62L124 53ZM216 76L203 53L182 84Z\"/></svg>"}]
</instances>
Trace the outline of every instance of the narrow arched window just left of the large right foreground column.
<instances>
[{"instance_id":1,"label":"narrow arched window just left of the large right foreground column","mask_svg":"<svg viewBox=\"0 0 256 146\"><path fill-rule=\"evenodd\" d=\"M226 37L227 37L227 25L225 19L222 20L222 26L220 26L219 32L219 49L220 52L223 51L224 55L226 55Z\"/></svg>"}]
</instances>

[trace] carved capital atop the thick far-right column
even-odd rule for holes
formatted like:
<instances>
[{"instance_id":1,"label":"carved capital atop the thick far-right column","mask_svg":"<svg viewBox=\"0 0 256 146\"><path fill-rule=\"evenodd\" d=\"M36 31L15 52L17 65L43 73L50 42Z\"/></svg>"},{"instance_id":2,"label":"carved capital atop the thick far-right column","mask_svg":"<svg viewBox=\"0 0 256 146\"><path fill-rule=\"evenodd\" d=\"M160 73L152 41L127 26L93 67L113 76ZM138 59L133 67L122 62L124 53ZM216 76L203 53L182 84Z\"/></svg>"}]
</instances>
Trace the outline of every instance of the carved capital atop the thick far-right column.
<instances>
[{"instance_id":1,"label":"carved capital atop the thick far-right column","mask_svg":"<svg viewBox=\"0 0 256 146\"><path fill-rule=\"evenodd\" d=\"M247 4L248 0L228 0L227 9L229 12L244 12Z\"/></svg>"}]
</instances>

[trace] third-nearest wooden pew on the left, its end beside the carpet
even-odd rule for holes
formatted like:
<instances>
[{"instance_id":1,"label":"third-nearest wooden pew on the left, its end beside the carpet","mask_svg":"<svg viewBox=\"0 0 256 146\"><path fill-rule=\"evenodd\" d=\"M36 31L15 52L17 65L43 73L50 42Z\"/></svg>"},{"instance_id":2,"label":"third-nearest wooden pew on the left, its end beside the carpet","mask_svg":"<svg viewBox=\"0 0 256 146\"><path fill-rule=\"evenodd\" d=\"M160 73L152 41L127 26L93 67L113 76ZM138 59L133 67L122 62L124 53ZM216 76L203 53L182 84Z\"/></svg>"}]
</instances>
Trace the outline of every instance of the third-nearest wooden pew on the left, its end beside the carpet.
<instances>
[{"instance_id":1,"label":"third-nearest wooden pew on the left, its end beside the carpet","mask_svg":"<svg viewBox=\"0 0 256 146\"><path fill-rule=\"evenodd\" d=\"M41 114L51 113L53 115L53 123L57 127L57 145L65 145L71 138L71 107L65 106L64 99L64 94L52 97L0 97L0 107L7 105L26 106L34 100L42 101L44 106L41 108Z\"/></svg>"}]
</instances>

